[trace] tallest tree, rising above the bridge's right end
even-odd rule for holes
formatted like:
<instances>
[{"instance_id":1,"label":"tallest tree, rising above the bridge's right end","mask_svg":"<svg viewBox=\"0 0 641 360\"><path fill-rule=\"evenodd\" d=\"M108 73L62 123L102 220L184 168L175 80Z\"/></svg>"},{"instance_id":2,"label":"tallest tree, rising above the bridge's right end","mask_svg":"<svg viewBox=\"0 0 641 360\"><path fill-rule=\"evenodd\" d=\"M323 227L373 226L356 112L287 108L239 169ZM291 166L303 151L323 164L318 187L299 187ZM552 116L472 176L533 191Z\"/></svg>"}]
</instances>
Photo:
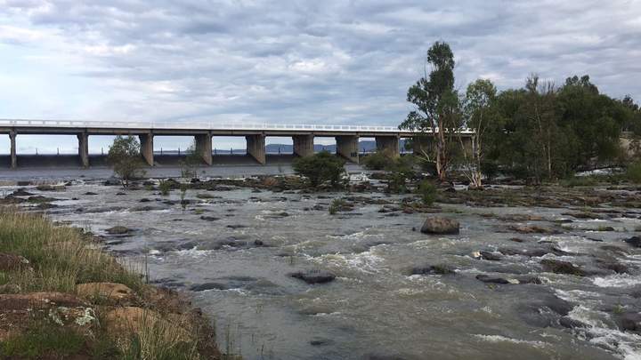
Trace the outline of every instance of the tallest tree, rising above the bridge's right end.
<instances>
[{"instance_id":1,"label":"tallest tree, rising above the bridge's right end","mask_svg":"<svg viewBox=\"0 0 641 360\"><path fill-rule=\"evenodd\" d=\"M454 54L447 43L436 42L427 51L426 65L432 67L427 76L410 87L407 100L414 104L400 129L430 132L434 138L434 160L424 151L427 161L434 161L439 180L445 180L450 166L450 142L453 132L460 127L460 104L454 90Z\"/></svg>"}]
</instances>

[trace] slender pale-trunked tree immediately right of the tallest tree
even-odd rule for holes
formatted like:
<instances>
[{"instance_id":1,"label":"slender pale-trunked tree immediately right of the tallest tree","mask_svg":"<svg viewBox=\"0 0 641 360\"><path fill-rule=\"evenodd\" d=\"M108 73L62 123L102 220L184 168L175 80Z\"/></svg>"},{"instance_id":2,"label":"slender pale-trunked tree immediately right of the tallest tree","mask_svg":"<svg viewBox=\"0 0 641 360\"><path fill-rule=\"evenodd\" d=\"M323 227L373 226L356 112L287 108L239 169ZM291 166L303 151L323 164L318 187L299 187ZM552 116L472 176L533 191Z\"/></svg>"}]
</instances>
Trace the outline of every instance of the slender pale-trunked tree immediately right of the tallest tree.
<instances>
[{"instance_id":1,"label":"slender pale-trunked tree immediately right of the tallest tree","mask_svg":"<svg viewBox=\"0 0 641 360\"><path fill-rule=\"evenodd\" d=\"M485 155L484 140L500 133L501 116L496 111L496 94L496 87L490 80L478 79L467 86L464 114L467 128L473 129L475 135L470 138L469 147L465 145L460 132L458 141L462 152L462 168L476 188L483 186L481 177Z\"/></svg>"}]
</instances>

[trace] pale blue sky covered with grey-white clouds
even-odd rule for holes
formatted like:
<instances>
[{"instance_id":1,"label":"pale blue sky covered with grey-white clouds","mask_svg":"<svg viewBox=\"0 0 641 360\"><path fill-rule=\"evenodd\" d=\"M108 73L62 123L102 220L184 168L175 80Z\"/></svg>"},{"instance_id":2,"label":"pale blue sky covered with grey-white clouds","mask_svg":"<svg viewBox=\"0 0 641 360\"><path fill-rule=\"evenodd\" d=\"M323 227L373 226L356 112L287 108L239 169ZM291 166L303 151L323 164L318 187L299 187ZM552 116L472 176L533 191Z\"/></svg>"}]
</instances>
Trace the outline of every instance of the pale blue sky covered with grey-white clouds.
<instances>
[{"instance_id":1,"label":"pale blue sky covered with grey-white clouds","mask_svg":"<svg viewBox=\"0 0 641 360\"><path fill-rule=\"evenodd\" d=\"M435 41L459 89L588 74L641 99L641 0L0 0L0 118L397 125ZM77 141L19 136L36 148Z\"/></svg>"}]
</instances>

